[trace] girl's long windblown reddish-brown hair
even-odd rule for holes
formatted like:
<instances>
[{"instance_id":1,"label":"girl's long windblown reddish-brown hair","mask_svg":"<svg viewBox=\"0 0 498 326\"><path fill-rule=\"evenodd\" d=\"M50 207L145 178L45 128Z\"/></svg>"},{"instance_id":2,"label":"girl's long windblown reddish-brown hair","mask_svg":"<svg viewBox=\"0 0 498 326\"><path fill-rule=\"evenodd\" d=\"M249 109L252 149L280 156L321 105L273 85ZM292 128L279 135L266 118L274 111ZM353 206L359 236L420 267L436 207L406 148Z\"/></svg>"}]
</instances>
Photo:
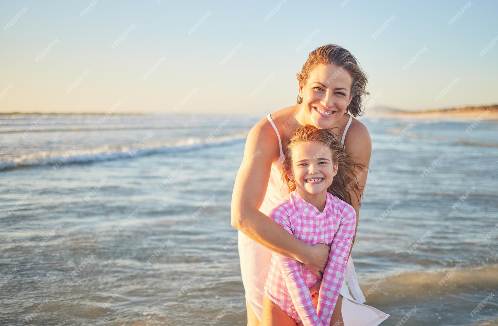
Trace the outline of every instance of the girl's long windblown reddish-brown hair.
<instances>
[{"instance_id":1,"label":"girl's long windblown reddish-brown hair","mask_svg":"<svg viewBox=\"0 0 498 326\"><path fill-rule=\"evenodd\" d=\"M327 189L329 193L339 197L349 205L352 205L353 193L356 195L358 203L361 204L363 197L363 188L358 185L358 179L368 169L366 165L359 163L351 154L347 152L341 142L332 132L333 129L319 129L312 124L305 124L297 128L290 136L290 142L287 145L287 154L285 160L280 166L282 170L282 181L287 183L289 193L296 189L296 184L287 176L288 172L292 172L292 151L296 144L300 142L319 141L323 144L320 152L316 155L324 153L326 150L332 152L333 163L338 163L337 174L334 176L332 184Z\"/></svg>"}]
</instances>

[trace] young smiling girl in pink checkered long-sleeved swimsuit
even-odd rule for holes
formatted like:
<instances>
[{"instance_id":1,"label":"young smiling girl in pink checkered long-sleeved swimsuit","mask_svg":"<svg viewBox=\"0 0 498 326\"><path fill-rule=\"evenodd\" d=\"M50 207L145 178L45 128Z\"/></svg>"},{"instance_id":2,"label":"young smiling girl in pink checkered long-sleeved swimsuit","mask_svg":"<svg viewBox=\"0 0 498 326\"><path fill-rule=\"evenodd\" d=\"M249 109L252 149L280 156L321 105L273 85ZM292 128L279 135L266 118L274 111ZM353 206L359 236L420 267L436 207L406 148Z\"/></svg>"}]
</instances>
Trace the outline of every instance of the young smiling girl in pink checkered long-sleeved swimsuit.
<instances>
[{"instance_id":1,"label":"young smiling girl in pink checkered long-sleeved swimsuit","mask_svg":"<svg viewBox=\"0 0 498 326\"><path fill-rule=\"evenodd\" d=\"M309 288L319 279L301 262L272 252L261 325L330 325L355 235L356 213L350 203L351 193L358 190L357 167L364 166L351 158L331 129L306 124L290 137L281 166L290 193L269 217L301 241L331 249L316 309Z\"/></svg>"}]
</instances>

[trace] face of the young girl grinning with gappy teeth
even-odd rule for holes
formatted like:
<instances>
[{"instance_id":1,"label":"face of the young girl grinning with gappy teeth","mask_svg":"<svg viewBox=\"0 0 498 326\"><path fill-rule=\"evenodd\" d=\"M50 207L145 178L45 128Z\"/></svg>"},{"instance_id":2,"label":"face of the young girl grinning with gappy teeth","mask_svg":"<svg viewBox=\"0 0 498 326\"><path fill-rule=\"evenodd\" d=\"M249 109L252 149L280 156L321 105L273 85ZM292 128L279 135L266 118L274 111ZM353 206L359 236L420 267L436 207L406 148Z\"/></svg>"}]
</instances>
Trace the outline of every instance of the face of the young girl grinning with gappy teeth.
<instances>
[{"instance_id":1,"label":"face of the young girl grinning with gappy teeth","mask_svg":"<svg viewBox=\"0 0 498 326\"><path fill-rule=\"evenodd\" d=\"M292 169L287 174L302 191L317 195L332 184L338 163L332 160L330 147L319 141L299 142L292 150ZM311 179L318 179L312 181Z\"/></svg>"}]
</instances>

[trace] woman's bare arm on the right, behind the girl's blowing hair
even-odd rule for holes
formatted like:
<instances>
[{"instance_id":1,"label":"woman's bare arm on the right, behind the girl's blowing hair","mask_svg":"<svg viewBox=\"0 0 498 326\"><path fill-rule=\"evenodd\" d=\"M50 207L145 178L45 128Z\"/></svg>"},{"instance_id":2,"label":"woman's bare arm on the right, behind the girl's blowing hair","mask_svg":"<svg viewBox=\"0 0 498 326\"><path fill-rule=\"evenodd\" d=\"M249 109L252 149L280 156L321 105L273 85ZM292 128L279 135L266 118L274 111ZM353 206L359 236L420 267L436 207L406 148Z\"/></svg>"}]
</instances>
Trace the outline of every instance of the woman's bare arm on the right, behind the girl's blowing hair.
<instances>
[{"instance_id":1,"label":"woman's bare arm on the right, behind the girl's blowing hair","mask_svg":"<svg viewBox=\"0 0 498 326\"><path fill-rule=\"evenodd\" d=\"M357 220L355 226L355 236L353 237L353 244L351 245L348 259L353 250L353 245L355 244L356 231L358 229L358 219L360 218L360 202L358 201L358 197L363 194L363 189L365 188L365 184L367 183L368 167L370 164L370 157L372 155L372 139L370 137L369 130L362 122L358 120L354 120L354 122L355 123L351 124L349 131L346 134L346 139L344 140L344 148L351 153L351 157L357 158L358 163L366 165L366 168L364 170L359 170L357 168L355 171L358 187L362 190L362 192L357 193L353 191L353 193L351 194L351 206L353 206L353 208L355 209Z\"/></svg>"}]
</instances>

